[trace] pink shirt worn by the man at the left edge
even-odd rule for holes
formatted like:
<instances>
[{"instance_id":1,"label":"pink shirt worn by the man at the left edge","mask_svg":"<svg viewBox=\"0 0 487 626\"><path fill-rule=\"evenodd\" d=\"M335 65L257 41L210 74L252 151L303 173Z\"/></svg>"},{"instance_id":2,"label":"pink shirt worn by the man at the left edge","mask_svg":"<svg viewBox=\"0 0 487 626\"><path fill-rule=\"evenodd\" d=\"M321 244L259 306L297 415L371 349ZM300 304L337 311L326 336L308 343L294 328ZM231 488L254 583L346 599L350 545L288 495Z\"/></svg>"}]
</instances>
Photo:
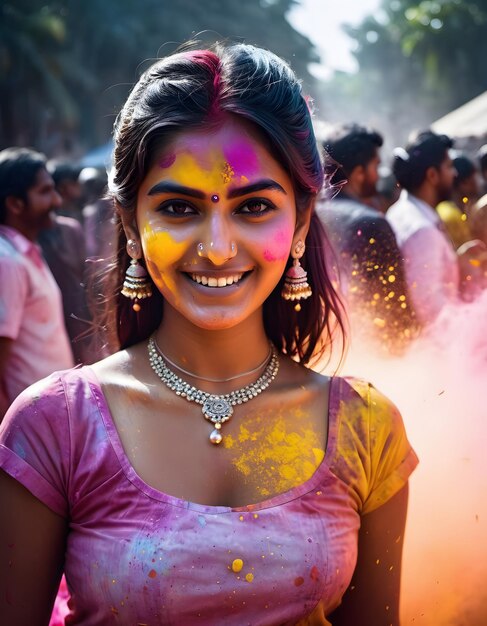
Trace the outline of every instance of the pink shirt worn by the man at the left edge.
<instances>
[{"instance_id":1,"label":"pink shirt worn by the man at the left edge","mask_svg":"<svg viewBox=\"0 0 487 626\"><path fill-rule=\"evenodd\" d=\"M12 400L52 372L72 367L61 292L39 247L0 225L0 337L13 339L0 380Z\"/></svg>"}]
</instances>

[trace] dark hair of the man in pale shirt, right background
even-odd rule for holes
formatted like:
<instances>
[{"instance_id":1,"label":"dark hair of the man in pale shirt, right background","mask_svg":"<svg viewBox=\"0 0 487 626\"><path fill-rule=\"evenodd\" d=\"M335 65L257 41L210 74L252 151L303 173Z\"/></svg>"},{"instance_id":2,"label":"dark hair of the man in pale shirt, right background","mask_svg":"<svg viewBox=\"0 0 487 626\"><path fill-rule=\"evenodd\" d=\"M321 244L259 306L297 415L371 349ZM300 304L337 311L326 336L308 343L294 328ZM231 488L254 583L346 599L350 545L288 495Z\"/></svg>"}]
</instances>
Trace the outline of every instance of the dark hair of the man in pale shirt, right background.
<instances>
[{"instance_id":1,"label":"dark hair of the man in pale shirt, right background","mask_svg":"<svg viewBox=\"0 0 487 626\"><path fill-rule=\"evenodd\" d=\"M393 152L392 171L397 182L407 191L416 191L424 182L430 167L439 168L445 160L453 140L447 135L436 135L431 130L419 133L404 148Z\"/></svg>"}]
</instances>

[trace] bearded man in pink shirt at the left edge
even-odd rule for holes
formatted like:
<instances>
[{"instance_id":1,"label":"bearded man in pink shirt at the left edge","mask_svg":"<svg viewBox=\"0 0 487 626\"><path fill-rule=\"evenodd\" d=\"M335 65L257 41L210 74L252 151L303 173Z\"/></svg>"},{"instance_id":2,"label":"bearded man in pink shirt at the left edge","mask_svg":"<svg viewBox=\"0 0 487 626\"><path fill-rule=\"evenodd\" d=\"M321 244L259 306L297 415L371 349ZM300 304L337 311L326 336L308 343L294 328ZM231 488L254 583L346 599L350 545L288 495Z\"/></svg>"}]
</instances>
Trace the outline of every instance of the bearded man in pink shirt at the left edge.
<instances>
[{"instance_id":1,"label":"bearded man in pink shirt at the left edge","mask_svg":"<svg viewBox=\"0 0 487 626\"><path fill-rule=\"evenodd\" d=\"M0 419L23 389L73 365L61 293L35 243L60 202L43 155L0 152Z\"/></svg>"}]
</instances>

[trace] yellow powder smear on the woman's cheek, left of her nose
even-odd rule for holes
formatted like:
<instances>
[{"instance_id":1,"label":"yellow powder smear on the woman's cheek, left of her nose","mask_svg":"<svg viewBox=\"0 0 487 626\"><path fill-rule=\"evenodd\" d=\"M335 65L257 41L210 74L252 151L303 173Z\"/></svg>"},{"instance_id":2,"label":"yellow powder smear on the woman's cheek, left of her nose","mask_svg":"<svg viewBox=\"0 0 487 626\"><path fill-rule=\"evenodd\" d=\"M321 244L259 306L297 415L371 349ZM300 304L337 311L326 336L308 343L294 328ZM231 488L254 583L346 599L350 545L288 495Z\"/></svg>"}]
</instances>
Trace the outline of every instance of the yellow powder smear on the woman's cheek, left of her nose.
<instances>
[{"instance_id":1,"label":"yellow powder smear on the woman's cheek, left of her nose","mask_svg":"<svg viewBox=\"0 0 487 626\"><path fill-rule=\"evenodd\" d=\"M143 225L142 246L156 284L162 281L168 289L175 291L174 282L164 270L183 256L187 245L184 241L175 241L165 230L155 231L149 223Z\"/></svg>"}]
</instances>

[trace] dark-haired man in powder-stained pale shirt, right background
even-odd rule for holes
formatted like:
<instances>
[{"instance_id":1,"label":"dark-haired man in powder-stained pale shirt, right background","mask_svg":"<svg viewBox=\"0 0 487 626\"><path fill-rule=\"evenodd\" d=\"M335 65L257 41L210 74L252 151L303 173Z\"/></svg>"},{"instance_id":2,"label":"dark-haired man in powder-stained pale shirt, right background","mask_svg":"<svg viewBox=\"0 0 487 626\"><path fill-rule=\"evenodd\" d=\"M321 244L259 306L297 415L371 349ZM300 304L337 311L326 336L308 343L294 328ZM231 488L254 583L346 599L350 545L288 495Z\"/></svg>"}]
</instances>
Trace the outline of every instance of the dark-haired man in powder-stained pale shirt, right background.
<instances>
[{"instance_id":1,"label":"dark-haired man in powder-stained pale shirt, right background","mask_svg":"<svg viewBox=\"0 0 487 626\"><path fill-rule=\"evenodd\" d=\"M427 325L459 291L458 259L435 207L448 200L455 169L446 135L425 131L394 151L393 172L402 187L387 212L404 257L404 269L417 320Z\"/></svg>"}]
</instances>

